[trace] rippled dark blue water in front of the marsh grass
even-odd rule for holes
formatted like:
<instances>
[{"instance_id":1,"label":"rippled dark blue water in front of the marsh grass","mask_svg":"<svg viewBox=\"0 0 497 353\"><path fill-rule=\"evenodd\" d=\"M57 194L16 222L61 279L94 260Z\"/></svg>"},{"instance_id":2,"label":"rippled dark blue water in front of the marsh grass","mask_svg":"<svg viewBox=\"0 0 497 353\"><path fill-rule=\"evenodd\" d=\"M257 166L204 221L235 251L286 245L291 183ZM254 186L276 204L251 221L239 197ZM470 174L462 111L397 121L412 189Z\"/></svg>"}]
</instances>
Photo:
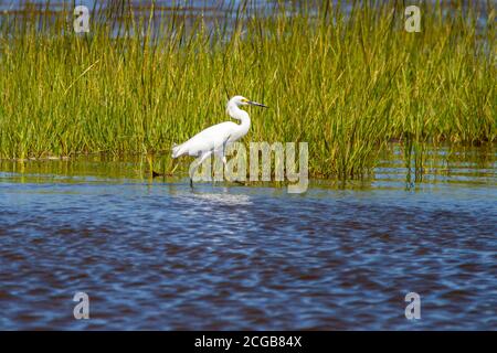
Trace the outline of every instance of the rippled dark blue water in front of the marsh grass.
<instances>
[{"instance_id":1,"label":"rippled dark blue water in front of the marsh grass","mask_svg":"<svg viewBox=\"0 0 497 353\"><path fill-rule=\"evenodd\" d=\"M497 329L496 152L345 189L0 162L0 329ZM445 157L444 157L445 156ZM430 163L427 163L430 164ZM89 296L75 320L73 296ZM408 320L404 297L421 296Z\"/></svg>"}]
</instances>

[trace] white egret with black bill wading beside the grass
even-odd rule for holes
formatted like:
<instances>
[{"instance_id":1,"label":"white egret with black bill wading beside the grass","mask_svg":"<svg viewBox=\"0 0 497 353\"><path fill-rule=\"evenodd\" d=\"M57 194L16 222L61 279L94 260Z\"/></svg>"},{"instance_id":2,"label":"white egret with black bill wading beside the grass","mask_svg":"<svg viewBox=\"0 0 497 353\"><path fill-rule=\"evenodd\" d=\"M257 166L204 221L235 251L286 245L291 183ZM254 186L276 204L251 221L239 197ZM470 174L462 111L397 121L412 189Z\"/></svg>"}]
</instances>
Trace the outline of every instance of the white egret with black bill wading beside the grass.
<instances>
[{"instance_id":1,"label":"white egret with black bill wading beside the grass","mask_svg":"<svg viewBox=\"0 0 497 353\"><path fill-rule=\"evenodd\" d=\"M245 110L240 109L240 107L248 105L267 108L261 103L251 101L242 96L234 96L228 101L226 113L233 119L240 120L241 124L225 121L211 126L187 142L172 147L172 158L184 154L199 157L197 164L190 169L190 186L193 186L193 174L197 169L212 154L220 157L223 164L226 164L226 147L244 137L251 127L251 117Z\"/></svg>"}]
</instances>

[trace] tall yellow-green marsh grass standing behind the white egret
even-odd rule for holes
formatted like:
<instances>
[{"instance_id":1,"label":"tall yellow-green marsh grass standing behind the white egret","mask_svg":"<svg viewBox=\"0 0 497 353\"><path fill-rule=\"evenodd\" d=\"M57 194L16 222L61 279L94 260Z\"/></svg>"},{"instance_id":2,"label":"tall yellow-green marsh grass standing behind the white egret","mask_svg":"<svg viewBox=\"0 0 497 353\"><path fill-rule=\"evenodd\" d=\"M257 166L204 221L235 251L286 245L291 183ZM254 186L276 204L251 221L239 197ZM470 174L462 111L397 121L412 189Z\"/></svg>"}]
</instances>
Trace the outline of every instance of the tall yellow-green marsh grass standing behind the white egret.
<instances>
[{"instance_id":1,"label":"tall yellow-green marsh grass standing behind the white egret","mask_svg":"<svg viewBox=\"0 0 497 353\"><path fill-rule=\"evenodd\" d=\"M0 158L142 154L166 171L171 145L226 120L235 94L271 106L251 109L244 141L307 141L313 176L361 178L393 139L406 160L425 142L495 142L491 1L485 15L422 2L421 33L399 1L303 3L214 19L101 3L87 34L73 8L2 14Z\"/></svg>"}]
</instances>

